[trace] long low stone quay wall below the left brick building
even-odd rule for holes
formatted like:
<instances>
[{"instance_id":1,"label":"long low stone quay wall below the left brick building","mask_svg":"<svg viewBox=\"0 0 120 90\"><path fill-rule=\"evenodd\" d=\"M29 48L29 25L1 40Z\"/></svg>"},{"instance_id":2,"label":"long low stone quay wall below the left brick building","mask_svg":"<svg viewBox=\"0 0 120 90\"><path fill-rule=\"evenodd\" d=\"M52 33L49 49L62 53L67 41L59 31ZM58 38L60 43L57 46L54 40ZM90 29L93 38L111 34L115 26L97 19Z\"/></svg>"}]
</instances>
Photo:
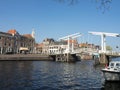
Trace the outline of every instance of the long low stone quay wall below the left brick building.
<instances>
[{"instance_id":1,"label":"long low stone quay wall below the left brick building","mask_svg":"<svg viewBox=\"0 0 120 90\"><path fill-rule=\"evenodd\" d=\"M4 54L0 55L0 61L52 61L53 59L49 55L40 55L40 54Z\"/></svg>"}]
</instances>

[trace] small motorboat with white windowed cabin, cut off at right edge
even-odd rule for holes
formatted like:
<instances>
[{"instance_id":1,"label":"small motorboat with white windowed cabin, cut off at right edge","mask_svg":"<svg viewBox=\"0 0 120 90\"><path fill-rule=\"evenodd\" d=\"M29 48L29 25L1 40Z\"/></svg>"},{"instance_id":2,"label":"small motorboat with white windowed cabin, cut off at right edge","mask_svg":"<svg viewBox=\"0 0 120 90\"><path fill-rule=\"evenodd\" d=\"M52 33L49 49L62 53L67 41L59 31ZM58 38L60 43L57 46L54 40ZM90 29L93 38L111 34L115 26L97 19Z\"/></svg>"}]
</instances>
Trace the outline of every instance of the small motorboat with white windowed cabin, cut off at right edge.
<instances>
[{"instance_id":1,"label":"small motorboat with white windowed cabin, cut off at right edge","mask_svg":"<svg viewBox=\"0 0 120 90\"><path fill-rule=\"evenodd\" d=\"M110 61L102 72L106 81L120 81L120 61Z\"/></svg>"}]
</instances>

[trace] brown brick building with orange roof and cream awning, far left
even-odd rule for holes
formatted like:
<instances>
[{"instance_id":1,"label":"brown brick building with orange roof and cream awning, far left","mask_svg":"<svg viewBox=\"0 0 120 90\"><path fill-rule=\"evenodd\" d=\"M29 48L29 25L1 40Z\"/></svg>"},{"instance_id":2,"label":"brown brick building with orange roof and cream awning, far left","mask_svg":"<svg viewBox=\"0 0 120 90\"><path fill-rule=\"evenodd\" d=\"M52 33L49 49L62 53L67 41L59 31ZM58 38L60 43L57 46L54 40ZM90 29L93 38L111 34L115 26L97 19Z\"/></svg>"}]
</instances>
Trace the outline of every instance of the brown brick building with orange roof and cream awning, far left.
<instances>
[{"instance_id":1,"label":"brown brick building with orange roof and cream awning, far left","mask_svg":"<svg viewBox=\"0 0 120 90\"><path fill-rule=\"evenodd\" d=\"M0 53L34 53L35 39L32 34L20 35L15 29L0 32Z\"/></svg>"}]
</instances>

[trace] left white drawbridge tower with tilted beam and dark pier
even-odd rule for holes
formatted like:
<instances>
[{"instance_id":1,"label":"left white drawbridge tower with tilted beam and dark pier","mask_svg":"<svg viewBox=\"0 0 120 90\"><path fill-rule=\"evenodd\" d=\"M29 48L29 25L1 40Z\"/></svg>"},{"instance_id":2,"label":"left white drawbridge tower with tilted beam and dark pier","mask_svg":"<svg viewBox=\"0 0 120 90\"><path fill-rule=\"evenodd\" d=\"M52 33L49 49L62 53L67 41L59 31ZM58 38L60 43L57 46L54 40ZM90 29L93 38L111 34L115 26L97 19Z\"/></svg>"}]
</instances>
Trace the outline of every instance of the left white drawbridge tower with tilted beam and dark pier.
<instances>
[{"instance_id":1,"label":"left white drawbridge tower with tilted beam and dark pier","mask_svg":"<svg viewBox=\"0 0 120 90\"><path fill-rule=\"evenodd\" d=\"M74 39L81 36L80 33L71 34L62 38L59 38L59 40L67 40L67 48L59 54L51 55L56 61L65 61L65 62L71 62L71 61L77 61L79 58L74 53Z\"/></svg>"}]
</instances>

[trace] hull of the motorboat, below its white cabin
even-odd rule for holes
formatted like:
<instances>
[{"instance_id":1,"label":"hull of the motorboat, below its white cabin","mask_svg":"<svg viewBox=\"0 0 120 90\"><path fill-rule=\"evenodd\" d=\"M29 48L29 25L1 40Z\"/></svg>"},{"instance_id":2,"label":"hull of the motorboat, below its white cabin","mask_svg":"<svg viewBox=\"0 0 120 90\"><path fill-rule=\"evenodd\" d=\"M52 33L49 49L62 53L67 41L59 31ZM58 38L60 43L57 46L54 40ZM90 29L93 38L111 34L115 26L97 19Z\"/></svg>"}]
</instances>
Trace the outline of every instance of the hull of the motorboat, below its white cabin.
<instances>
[{"instance_id":1,"label":"hull of the motorboat, below its white cabin","mask_svg":"<svg viewBox=\"0 0 120 90\"><path fill-rule=\"evenodd\" d=\"M102 70L106 81L120 81L120 72Z\"/></svg>"}]
</instances>

